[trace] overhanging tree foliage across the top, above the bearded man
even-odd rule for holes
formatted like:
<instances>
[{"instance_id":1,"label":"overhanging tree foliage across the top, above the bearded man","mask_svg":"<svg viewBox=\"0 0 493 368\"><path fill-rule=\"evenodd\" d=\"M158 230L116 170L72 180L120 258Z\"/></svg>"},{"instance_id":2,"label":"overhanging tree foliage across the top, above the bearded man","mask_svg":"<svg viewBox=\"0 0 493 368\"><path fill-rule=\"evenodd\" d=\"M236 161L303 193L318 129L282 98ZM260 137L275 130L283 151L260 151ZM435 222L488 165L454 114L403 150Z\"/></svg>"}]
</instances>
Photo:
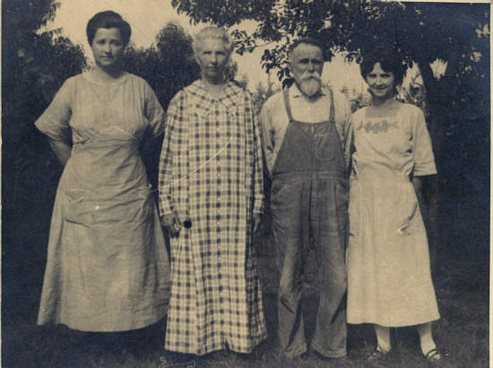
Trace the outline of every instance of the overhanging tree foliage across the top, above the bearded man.
<instances>
[{"instance_id":1,"label":"overhanging tree foliage across the top, above the bearded man","mask_svg":"<svg viewBox=\"0 0 493 368\"><path fill-rule=\"evenodd\" d=\"M437 58L448 61L453 74L475 73L471 58L477 52L488 54L487 4L383 4L368 0L214 0L213 4L174 0L172 4L195 23L231 27L255 21L254 31L232 30L238 52L269 45L263 66L267 72L276 69L281 80L290 76L285 65L287 48L301 36L322 40L326 60L336 51L348 51L350 58L359 60L361 52L380 42L398 48L409 65L414 61L425 68ZM428 82L428 74L423 79Z\"/></svg>"}]
</instances>

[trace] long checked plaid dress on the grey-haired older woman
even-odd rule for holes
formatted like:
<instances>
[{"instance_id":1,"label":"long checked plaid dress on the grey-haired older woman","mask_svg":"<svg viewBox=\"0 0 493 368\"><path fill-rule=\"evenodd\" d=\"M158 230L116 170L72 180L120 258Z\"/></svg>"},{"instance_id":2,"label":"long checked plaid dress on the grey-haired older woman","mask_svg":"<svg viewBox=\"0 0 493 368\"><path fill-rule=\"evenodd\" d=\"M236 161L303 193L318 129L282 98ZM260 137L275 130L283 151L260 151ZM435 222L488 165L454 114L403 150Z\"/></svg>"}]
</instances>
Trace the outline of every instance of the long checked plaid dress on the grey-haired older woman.
<instances>
[{"instance_id":1,"label":"long checked plaid dress on the grey-haired older woman","mask_svg":"<svg viewBox=\"0 0 493 368\"><path fill-rule=\"evenodd\" d=\"M266 337L252 217L264 206L260 129L232 83L217 100L201 81L171 101L160 157L160 215L190 220L171 239L166 348L248 353Z\"/></svg>"}]
</instances>

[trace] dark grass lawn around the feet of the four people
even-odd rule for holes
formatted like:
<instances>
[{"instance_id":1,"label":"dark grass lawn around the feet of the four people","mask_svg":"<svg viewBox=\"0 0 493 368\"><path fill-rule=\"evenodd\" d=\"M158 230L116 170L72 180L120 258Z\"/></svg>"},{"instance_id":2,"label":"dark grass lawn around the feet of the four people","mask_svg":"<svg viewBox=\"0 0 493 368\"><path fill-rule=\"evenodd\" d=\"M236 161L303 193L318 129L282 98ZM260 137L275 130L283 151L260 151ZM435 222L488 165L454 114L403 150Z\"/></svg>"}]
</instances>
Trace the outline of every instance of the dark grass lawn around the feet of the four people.
<instances>
[{"instance_id":1,"label":"dark grass lawn around the feet of the four people","mask_svg":"<svg viewBox=\"0 0 493 368\"><path fill-rule=\"evenodd\" d=\"M17 229L17 232L32 229ZM38 241L24 244L23 250L39 253L32 247L43 243L45 231ZM36 232L34 232L36 233ZM41 236L42 235L42 236ZM32 239L32 235L30 236ZM46 238L45 238L46 239ZM4 238L9 241L9 238ZM264 243L264 241L262 241ZM266 244L265 244L266 245ZM31 247L31 248L30 248ZM321 360L314 355L305 359L288 361L276 353L275 272L270 250L266 246L259 257L260 276L264 285L264 311L269 338L251 355L237 355L229 351L215 352L196 360L196 367L427 367L419 351L419 341L414 329L393 329L394 349L377 365L369 365L366 354L375 345L370 326L349 326L348 357L344 361ZM22 256L23 257L23 256ZM434 323L437 345L446 352L445 367L489 366L489 257L467 257L447 254L439 259L435 270L438 306L441 320ZM32 258L32 257L31 257ZM39 328L36 313L44 260L21 262L17 275L4 273L2 319L2 367L128 367L163 368L161 357L168 359L164 343L165 324L137 334L121 334L121 341L98 334L85 334L63 327ZM5 271L5 269L4 269ZM8 271L8 269L7 269ZM22 276L19 276L22 274ZM20 277L20 278L19 278ZM309 277L308 277L309 278ZM12 283L16 287L5 287ZM307 336L313 330L316 310L316 293L307 284L305 309L307 311ZM125 344L126 343L126 344ZM174 365L186 367L187 365Z\"/></svg>"}]
</instances>

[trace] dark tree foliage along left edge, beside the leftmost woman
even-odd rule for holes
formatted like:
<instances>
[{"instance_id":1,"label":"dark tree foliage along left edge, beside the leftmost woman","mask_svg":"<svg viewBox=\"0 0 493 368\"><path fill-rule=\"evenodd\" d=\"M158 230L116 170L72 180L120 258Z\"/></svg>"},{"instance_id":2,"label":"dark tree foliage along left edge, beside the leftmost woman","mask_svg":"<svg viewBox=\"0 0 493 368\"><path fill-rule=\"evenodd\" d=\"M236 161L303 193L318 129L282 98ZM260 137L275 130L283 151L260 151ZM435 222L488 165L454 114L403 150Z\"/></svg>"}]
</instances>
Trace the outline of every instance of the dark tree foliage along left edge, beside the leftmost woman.
<instances>
[{"instance_id":1,"label":"dark tree foliage along left edge, beside the leftmost woman","mask_svg":"<svg viewBox=\"0 0 493 368\"><path fill-rule=\"evenodd\" d=\"M58 31L39 31L55 16L55 1L5 0L2 7L4 304L34 322L60 167L33 123L86 60L82 48Z\"/></svg>"}]
</instances>

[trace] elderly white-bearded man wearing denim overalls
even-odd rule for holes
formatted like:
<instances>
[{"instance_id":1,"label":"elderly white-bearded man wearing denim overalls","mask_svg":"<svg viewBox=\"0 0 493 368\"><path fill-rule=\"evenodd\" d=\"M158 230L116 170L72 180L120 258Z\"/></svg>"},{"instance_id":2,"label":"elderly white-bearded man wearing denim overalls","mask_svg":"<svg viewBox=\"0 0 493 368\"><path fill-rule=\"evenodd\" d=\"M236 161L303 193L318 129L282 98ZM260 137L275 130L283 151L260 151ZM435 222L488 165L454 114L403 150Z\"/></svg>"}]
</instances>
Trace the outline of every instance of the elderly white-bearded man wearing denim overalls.
<instances>
[{"instance_id":1,"label":"elderly white-bearded man wearing denim overalls","mask_svg":"<svg viewBox=\"0 0 493 368\"><path fill-rule=\"evenodd\" d=\"M313 239L320 302L311 349L339 358L346 355L350 105L342 93L322 88L324 58L316 39L295 42L289 58L295 83L266 101L260 115L272 178L272 234L281 273L279 339L287 357L307 352L300 300Z\"/></svg>"}]
</instances>

